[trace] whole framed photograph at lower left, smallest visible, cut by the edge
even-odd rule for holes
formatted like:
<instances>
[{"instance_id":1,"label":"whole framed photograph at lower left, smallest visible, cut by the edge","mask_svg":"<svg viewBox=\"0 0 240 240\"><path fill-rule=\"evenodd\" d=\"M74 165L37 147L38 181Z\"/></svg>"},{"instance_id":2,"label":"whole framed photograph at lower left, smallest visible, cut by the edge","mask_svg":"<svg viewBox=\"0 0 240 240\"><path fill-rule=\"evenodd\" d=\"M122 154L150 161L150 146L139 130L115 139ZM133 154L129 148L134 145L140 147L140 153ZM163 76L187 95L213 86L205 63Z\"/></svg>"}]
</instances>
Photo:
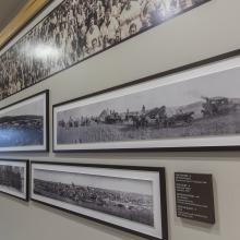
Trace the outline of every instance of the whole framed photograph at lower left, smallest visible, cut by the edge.
<instances>
[{"instance_id":1,"label":"whole framed photograph at lower left, smallest visible, cut by the edge","mask_svg":"<svg viewBox=\"0 0 240 240\"><path fill-rule=\"evenodd\" d=\"M0 159L0 192L28 201L28 160Z\"/></svg>"}]
</instances>

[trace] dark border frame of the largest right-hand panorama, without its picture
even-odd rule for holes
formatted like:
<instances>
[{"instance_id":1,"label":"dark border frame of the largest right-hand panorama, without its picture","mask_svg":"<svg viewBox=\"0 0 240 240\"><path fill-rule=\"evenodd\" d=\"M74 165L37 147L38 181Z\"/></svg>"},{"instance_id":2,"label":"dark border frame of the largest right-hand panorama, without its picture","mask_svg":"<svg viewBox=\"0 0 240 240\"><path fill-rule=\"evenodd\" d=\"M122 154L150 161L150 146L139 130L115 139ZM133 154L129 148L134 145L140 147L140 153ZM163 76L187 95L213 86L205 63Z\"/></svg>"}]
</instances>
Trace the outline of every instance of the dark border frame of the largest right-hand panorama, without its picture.
<instances>
[{"instance_id":1,"label":"dark border frame of the largest right-hand panorama, without its picture","mask_svg":"<svg viewBox=\"0 0 240 240\"><path fill-rule=\"evenodd\" d=\"M227 53L224 53L224 55L219 55L219 56L216 56L216 57L213 57L213 58L209 58L209 59L205 59L205 60L201 60L201 61L197 61L197 62L194 62L194 63L191 63L191 64L187 64L187 65L183 65L183 67L180 67L180 68L177 68L177 69L172 69L172 70L169 70L169 71L166 71L166 72L161 72L161 73L157 73L157 74L154 74L154 75L151 75L151 76L147 76L147 77L143 77L143 79L140 79L140 80L136 80L136 81L133 81L133 82L130 82L130 83L127 83L127 84L122 84L122 85L118 85L118 86L115 86L115 87L111 87L111 88L107 88L107 89L104 89L104 91L99 91L99 92L96 92L96 93L93 93L93 94L88 94L88 95L85 95L85 96L82 96L82 97L77 97L77 98L74 98L74 99L71 99L71 100L67 100L67 101L63 101L63 103L59 103L59 104L56 104L52 106L52 137L53 137L53 152L55 153L71 153L71 152L116 152L116 151L125 151L125 152L134 152L134 151L175 151L175 152L184 152L184 151L192 151L192 152L195 152L195 151L238 151L239 149L239 145L207 145L207 146L178 146L178 147L175 147L175 146L168 146L168 147L165 147L165 146L159 146L159 147L143 147L141 145L141 147L125 147L125 148L121 148L121 147L111 147L111 148L59 148L59 147L56 147L56 133L55 133L55 109L58 108L58 107L61 107L61 106L64 106L64 105L69 105L69 104L73 104L75 101L81 101L81 100L86 100L87 98L92 98L92 97L98 97L98 95L105 95L105 94L109 94L110 92L115 92L115 91L119 91L121 88L124 88L124 89L128 89L128 87L134 87L135 85L137 84L141 84L141 83L147 83L148 81L154 81L155 79L163 79L163 77L168 77L168 76L171 76L173 74L182 74L184 73L185 71L194 71L195 69L197 68L206 68L208 64L214 64L214 63L217 63L219 64L221 61L224 60L231 60L231 58L233 59L235 57L239 57L240 56L240 49L238 50L235 50L235 51L230 51L230 52L227 52ZM220 71L219 71L220 72ZM207 139L207 136L205 136ZM185 137L187 139L187 137ZM116 142L118 143L118 142Z\"/></svg>"}]
</instances>

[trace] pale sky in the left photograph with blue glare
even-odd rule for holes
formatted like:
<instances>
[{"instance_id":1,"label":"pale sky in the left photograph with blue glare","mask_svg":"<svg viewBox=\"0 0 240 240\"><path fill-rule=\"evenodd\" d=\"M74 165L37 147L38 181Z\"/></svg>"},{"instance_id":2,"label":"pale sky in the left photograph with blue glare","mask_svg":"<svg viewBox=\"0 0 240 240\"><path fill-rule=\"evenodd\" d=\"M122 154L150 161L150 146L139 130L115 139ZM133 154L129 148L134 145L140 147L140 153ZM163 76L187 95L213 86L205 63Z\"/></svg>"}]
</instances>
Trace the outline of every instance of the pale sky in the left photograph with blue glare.
<instances>
[{"instance_id":1,"label":"pale sky in the left photograph with blue glare","mask_svg":"<svg viewBox=\"0 0 240 240\"><path fill-rule=\"evenodd\" d=\"M0 111L0 118L2 116L23 116L23 115L35 115L43 116L44 112L44 99L33 101L31 104L23 105L21 107L13 106L14 109L9 111Z\"/></svg>"}]
</instances>

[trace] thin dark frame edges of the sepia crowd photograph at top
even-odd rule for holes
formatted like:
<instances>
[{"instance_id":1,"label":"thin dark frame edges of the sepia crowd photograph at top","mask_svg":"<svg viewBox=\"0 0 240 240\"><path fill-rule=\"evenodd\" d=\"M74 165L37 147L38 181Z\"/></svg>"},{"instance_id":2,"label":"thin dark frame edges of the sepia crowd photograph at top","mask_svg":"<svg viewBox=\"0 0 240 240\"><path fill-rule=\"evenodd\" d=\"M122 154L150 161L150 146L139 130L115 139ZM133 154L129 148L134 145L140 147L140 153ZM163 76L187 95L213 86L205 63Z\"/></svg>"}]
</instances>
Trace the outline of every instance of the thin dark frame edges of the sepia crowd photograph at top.
<instances>
[{"instance_id":1,"label":"thin dark frame edges of the sepia crowd photograph at top","mask_svg":"<svg viewBox=\"0 0 240 240\"><path fill-rule=\"evenodd\" d=\"M63 1L65 1L65 0L63 0ZM38 23L36 23L29 31L27 31L20 39L16 40L16 43L15 43L14 45L19 44L19 43L22 40L22 38L25 37L28 33L31 33L40 22L45 21L55 10L57 10L58 8L60 8L63 1L61 1L61 2L60 2L57 7L55 7L46 16L44 16L44 17L43 17ZM28 87L32 87L32 86L34 86L34 85L36 85L36 84L43 82L44 80L47 80L47 79L49 79L49 77L51 77L51 76L53 76L53 75L56 75L56 74L58 74L58 73L61 73L62 71L65 71L65 70L68 70L68 69L70 69L70 68L72 68L72 67L79 64L80 62L83 62L83 61L85 61L85 60L87 60L87 59L89 59L89 58L93 58L93 57L95 57L96 55L99 55L99 53L101 53L101 52L104 52L104 51L106 51L106 50L108 50L108 49L110 49L110 48L112 48L112 47L115 47L115 46L118 46L118 45L120 45L120 44L122 44L122 43L124 43L124 41L127 41L127 40L129 40L129 39L131 39L131 38L133 38L133 37L140 35L140 34L142 34L142 33L145 33L145 32L147 32L147 31L149 31L149 29L152 29L152 28L154 28L154 27L156 27L156 26L159 26L159 25L161 25L163 23L166 23L166 22L168 22L168 21L170 21L170 20L172 20L172 19L175 19L175 17L177 17L177 16L179 16L179 15L181 15L181 14L184 14L185 12L189 12L189 11L191 11L191 10L193 10L193 9L195 9L195 8L197 8L197 7L200 7L200 5L203 5L203 4L205 4L205 3L209 2L209 1L212 1L212 0L206 0L205 2L196 3L196 4L193 5L193 7L190 7L190 8L185 9L185 10L179 12L179 13L176 13L175 15L172 15L172 16L166 19L166 21L164 21L164 22L161 22L161 23L159 23L159 24L153 24L152 26L149 26L149 27L147 27L147 28L144 28L144 29L137 32L136 34L132 35L132 36L129 36L129 37L122 39L120 43L113 44L113 45L111 45L111 46L109 46L109 47L106 47L105 49L99 50L99 51L97 51L97 52L95 52L95 53L93 53L93 55L91 55L91 56L88 56L88 57L86 57L86 58L83 58L83 59L81 59L81 60L74 62L73 64L71 64L71 65L69 65L69 67L65 67L64 69L62 69L62 70L60 70L60 71L57 71L57 72L55 72L55 73L52 73L52 74L49 74L49 75L46 76L46 77L43 77L43 79L36 81L36 83L34 83L34 84L32 84L32 85L29 85L29 86L26 86L26 87L22 88L22 89L19 91L19 92L15 92L15 93L13 93L13 94L11 94L11 95L5 96L4 98L2 98L2 99L0 99L0 100L3 100L3 99L5 99L5 98L8 98L8 97L10 97L10 96L13 96L13 95L15 95L15 94L17 94L17 93L20 93L20 92L22 92L22 91L28 88ZM47 7L49 7L50 3L52 3L52 0L50 0L50 2L47 3L47 5L44 7L44 9L43 9L40 12L43 12ZM36 16L38 16L38 15L40 14L40 12L37 13L33 19L36 19ZM33 21L33 19L29 20L29 21L27 22L27 24L29 24L29 23ZM27 24L25 24L25 26L26 26ZM25 26L24 26L24 27L25 27ZM21 31L22 31L24 27L22 27ZM20 33L20 31L19 31L19 33ZM16 35L14 35L14 37L15 37L15 36L16 36ZM12 38L14 38L14 37L12 37ZM12 38L4 44L4 47L12 40ZM4 52L2 52L2 55L4 55L8 50L10 50L14 45L10 46ZM0 50L2 50L2 48L3 48L3 47L0 47ZM1 55L1 56L2 56L2 55ZM0 56L0 58L1 58L1 56Z\"/></svg>"}]
</instances>

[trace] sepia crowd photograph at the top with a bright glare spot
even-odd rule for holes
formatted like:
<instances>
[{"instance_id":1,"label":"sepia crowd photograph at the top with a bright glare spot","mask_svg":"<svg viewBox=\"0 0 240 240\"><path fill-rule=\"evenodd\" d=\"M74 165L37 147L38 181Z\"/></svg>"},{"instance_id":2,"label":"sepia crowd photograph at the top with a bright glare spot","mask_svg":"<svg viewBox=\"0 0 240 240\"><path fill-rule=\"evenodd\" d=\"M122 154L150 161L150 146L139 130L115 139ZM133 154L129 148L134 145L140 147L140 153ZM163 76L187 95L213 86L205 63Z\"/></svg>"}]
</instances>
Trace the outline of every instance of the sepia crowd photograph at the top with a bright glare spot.
<instances>
[{"instance_id":1,"label":"sepia crowd photograph at the top with a bright glare spot","mask_svg":"<svg viewBox=\"0 0 240 240\"><path fill-rule=\"evenodd\" d=\"M208 1L60 1L1 55L0 99Z\"/></svg>"}]
</instances>

